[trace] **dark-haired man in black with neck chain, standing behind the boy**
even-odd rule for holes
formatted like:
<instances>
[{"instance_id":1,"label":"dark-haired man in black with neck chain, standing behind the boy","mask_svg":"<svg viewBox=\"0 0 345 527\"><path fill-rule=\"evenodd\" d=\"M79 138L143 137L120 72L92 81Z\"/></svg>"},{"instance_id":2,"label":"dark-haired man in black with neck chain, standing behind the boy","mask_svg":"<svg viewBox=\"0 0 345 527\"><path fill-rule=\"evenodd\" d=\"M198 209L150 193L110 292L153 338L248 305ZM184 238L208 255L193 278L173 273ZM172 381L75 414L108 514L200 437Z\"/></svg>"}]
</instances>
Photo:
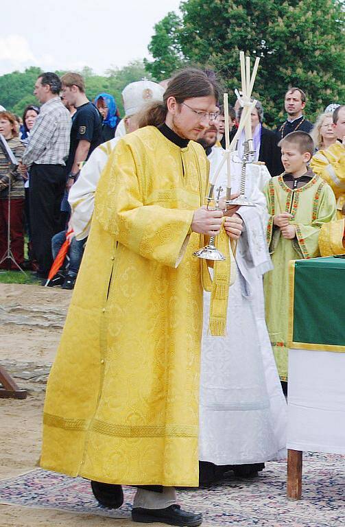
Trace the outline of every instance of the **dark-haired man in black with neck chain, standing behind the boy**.
<instances>
[{"instance_id":1,"label":"dark-haired man in black with neck chain, standing behind the boy","mask_svg":"<svg viewBox=\"0 0 345 527\"><path fill-rule=\"evenodd\" d=\"M279 125L276 129L279 141L285 137L285 135L296 132L311 132L313 125L307 121L303 116L302 110L305 108L305 92L300 88L290 88L285 93L285 111L287 113L287 120L283 124Z\"/></svg>"}]
</instances>

